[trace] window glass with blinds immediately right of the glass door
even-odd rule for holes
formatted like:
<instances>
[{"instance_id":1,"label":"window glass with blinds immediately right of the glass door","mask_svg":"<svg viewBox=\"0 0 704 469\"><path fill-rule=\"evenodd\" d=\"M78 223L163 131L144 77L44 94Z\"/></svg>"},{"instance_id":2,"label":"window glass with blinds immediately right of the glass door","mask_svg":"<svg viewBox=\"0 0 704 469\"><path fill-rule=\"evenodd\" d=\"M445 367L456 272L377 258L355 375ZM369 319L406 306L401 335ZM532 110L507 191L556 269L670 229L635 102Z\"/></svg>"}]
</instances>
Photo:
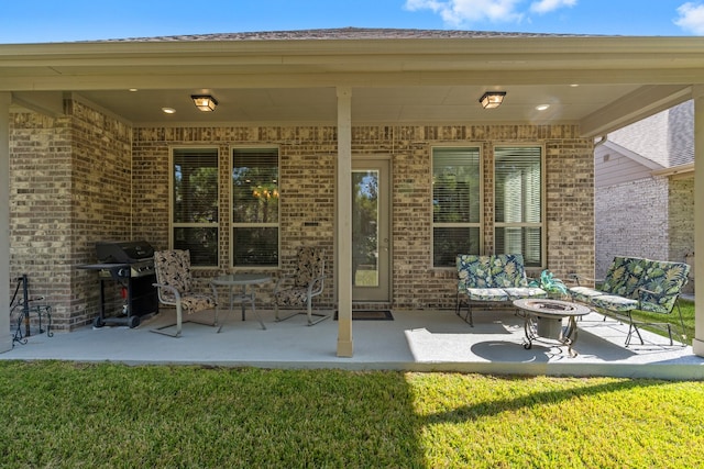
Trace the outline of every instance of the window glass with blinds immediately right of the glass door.
<instances>
[{"instance_id":1,"label":"window glass with blinds immediately right of the glass door","mask_svg":"<svg viewBox=\"0 0 704 469\"><path fill-rule=\"evenodd\" d=\"M480 254L479 147L432 149L432 264L455 267L458 254Z\"/></svg>"}]
</instances>

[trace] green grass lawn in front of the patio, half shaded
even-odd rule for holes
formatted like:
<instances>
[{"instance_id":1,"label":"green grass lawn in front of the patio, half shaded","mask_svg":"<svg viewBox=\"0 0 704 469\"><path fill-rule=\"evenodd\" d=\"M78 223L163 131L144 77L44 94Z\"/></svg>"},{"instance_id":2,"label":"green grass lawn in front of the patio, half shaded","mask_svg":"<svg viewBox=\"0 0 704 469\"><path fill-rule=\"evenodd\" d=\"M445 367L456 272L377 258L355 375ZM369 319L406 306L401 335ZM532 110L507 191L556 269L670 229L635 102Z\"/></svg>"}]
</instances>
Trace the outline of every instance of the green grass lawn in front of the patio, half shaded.
<instances>
[{"instance_id":1,"label":"green grass lawn in front of the patio, half shaded","mask_svg":"<svg viewBox=\"0 0 704 469\"><path fill-rule=\"evenodd\" d=\"M704 384L0 362L3 468L693 468Z\"/></svg>"}]
</instances>

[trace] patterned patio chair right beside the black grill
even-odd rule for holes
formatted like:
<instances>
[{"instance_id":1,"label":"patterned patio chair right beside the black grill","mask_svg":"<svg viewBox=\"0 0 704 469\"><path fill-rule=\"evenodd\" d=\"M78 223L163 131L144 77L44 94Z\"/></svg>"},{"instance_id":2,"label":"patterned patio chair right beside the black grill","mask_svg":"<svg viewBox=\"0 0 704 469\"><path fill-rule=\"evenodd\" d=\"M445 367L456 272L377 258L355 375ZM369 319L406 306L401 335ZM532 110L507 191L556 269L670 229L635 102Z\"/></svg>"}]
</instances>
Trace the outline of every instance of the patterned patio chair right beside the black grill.
<instances>
[{"instance_id":1,"label":"patterned patio chair right beside the black grill","mask_svg":"<svg viewBox=\"0 0 704 469\"><path fill-rule=\"evenodd\" d=\"M174 249L154 252L154 269L156 270L156 287L158 301L163 304L176 306L176 323L157 327L152 332L179 337L182 324L184 323L184 310L188 314L200 311L215 310L215 321L212 323L195 322L205 325L218 325L217 292L211 284L212 295L194 291L194 278L190 272L190 252ZM167 332L166 328L176 326L176 332Z\"/></svg>"}]
</instances>

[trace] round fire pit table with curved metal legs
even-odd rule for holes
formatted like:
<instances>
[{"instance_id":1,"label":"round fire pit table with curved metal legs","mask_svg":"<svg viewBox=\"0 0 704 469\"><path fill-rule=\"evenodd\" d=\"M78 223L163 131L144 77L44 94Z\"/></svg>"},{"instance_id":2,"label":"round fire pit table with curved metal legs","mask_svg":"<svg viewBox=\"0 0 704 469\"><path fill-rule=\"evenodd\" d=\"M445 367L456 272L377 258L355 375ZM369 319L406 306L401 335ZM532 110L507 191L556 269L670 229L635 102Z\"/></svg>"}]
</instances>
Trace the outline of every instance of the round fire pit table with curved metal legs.
<instances>
[{"instance_id":1,"label":"round fire pit table with curved metal legs","mask_svg":"<svg viewBox=\"0 0 704 469\"><path fill-rule=\"evenodd\" d=\"M514 301L514 305L524 312L526 339L524 348L532 347L534 342L544 342L566 346L570 357L575 357L572 348L576 343L576 317L590 313L582 304L561 300L524 299ZM568 319L566 326L562 320Z\"/></svg>"}]
</instances>

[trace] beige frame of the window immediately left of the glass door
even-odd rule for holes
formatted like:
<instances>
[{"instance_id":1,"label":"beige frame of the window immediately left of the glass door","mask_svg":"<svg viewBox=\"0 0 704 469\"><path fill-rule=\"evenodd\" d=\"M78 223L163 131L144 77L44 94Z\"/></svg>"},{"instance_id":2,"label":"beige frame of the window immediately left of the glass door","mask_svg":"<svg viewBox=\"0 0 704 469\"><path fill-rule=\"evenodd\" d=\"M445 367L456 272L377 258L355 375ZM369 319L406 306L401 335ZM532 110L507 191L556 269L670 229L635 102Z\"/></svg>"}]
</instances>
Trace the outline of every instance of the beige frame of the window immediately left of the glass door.
<instances>
[{"instance_id":1,"label":"beige frame of the window immediately left of the glass door","mask_svg":"<svg viewBox=\"0 0 704 469\"><path fill-rule=\"evenodd\" d=\"M234 152L238 149L275 149L276 150L276 171L277 171L277 187L278 187L278 210L277 210L277 220L276 222L270 223L239 223L233 219L234 214L234 194L232 192L232 169L234 167ZM229 166L228 166L228 209L229 209L229 220L230 220L230 268L233 270L277 270L280 269L282 266L282 211L280 211L280 202L282 202L282 149L280 145L232 145L230 146L230 157L229 157ZM276 246L277 253L276 258L277 263L275 266L238 266L234 264L234 243L235 230L240 227L276 227Z\"/></svg>"}]
</instances>

